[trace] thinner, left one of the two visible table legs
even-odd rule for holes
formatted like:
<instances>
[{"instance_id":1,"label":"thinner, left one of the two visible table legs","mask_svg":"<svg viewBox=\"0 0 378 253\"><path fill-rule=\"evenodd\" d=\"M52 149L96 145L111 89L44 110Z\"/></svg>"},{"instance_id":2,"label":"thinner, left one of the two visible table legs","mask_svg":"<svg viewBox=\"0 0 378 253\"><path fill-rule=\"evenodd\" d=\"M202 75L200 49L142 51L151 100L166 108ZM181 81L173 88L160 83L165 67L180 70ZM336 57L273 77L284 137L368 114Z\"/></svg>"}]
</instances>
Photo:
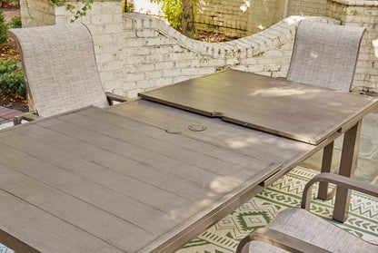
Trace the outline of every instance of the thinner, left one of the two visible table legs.
<instances>
[{"instance_id":1,"label":"thinner, left one of the two visible table legs","mask_svg":"<svg viewBox=\"0 0 378 253\"><path fill-rule=\"evenodd\" d=\"M323 149L323 161L321 172L331 172L332 157L333 157L333 141ZM334 191L328 193L328 183L319 182L318 199L332 199Z\"/></svg>"}]
</instances>

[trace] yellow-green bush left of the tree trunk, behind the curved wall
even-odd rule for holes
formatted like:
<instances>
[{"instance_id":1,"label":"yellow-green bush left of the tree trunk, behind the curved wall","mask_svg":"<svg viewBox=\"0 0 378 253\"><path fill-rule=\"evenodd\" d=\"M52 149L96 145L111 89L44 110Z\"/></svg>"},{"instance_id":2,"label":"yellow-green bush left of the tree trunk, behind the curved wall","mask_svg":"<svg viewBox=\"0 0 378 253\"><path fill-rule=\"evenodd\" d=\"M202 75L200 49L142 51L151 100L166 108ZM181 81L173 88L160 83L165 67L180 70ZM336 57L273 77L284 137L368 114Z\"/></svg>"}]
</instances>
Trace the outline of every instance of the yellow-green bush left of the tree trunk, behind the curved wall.
<instances>
[{"instance_id":1,"label":"yellow-green bush left of the tree trunk, behind the curved wall","mask_svg":"<svg viewBox=\"0 0 378 253\"><path fill-rule=\"evenodd\" d=\"M153 3L163 3L162 11L164 18L168 20L174 29L181 27L183 21L183 3L182 0L150 0Z\"/></svg>"}]
</instances>

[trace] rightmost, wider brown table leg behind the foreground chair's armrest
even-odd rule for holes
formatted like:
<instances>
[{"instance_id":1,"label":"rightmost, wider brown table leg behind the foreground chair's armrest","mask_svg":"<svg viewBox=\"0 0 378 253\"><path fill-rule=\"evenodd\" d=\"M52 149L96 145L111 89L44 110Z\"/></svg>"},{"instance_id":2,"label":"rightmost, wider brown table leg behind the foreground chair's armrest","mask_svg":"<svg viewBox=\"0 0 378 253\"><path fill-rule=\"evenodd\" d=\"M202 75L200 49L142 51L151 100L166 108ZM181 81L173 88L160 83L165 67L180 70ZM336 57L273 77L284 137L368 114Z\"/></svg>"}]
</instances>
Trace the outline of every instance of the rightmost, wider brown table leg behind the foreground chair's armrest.
<instances>
[{"instance_id":1,"label":"rightmost, wider brown table leg behind the foreground chair's armrest","mask_svg":"<svg viewBox=\"0 0 378 253\"><path fill-rule=\"evenodd\" d=\"M353 178L354 175L360 144L361 125L362 121L359 121L353 128L344 133L342 160L339 171L339 174L344 177ZM336 199L334 200L333 219L340 222L347 219L350 197L351 190L342 187L337 188Z\"/></svg>"}]
</instances>

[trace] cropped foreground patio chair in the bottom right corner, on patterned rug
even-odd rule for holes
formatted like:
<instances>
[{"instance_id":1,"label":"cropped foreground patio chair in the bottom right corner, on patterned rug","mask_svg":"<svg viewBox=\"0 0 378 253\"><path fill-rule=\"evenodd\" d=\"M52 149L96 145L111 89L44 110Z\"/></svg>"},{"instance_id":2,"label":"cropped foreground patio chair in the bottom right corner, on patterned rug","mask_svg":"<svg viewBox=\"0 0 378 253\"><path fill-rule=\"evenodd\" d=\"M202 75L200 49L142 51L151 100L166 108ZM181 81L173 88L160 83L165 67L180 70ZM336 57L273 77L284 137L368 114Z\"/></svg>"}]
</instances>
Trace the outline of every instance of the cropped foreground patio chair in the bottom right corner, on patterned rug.
<instances>
[{"instance_id":1,"label":"cropped foreground patio chair in the bottom right corner, on patterned rug","mask_svg":"<svg viewBox=\"0 0 378 253\"><path fill-rule=\"evenodd\" d=\"M308 211L313 183L316 181L331 182L378 197L376 186L337 174L318 174L303 190L302 209L284 209L264 229L256 229L244 238L236 252L378 252L377 245Z\"/></svg>"}]
</instances>

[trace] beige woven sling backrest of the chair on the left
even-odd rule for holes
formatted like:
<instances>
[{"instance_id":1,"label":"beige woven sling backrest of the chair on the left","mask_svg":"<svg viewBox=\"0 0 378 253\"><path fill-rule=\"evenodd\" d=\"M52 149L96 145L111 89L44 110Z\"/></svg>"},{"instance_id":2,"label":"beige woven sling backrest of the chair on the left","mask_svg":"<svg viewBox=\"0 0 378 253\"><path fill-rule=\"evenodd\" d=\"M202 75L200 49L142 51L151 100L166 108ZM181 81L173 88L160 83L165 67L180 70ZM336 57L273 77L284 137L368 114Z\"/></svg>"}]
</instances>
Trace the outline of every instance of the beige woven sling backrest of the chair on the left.
<instances>
[{"instance_id":1,"label":"beige woven sling backrest of the chair on the left","mask_svg":"<svg viewBox=\"0 0 378 253\"><path fill-rule=\"evenodd\" d=\"M108 105L85 24L9 29L21 53L29 108L51 116Z\"/></svg>"}]
</instances>

